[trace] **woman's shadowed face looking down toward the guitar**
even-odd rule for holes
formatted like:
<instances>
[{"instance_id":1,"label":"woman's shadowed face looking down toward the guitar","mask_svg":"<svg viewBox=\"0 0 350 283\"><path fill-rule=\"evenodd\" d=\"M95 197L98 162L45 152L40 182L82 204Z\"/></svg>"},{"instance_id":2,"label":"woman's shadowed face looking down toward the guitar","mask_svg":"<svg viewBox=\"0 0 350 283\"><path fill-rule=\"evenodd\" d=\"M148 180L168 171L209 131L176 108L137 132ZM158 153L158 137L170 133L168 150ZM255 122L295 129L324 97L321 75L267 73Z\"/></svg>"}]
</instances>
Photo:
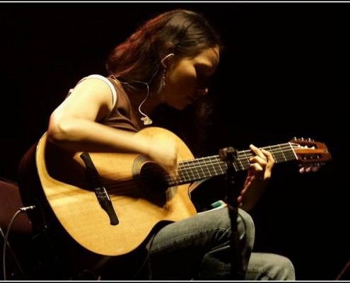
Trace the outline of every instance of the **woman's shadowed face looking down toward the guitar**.
<instances>
[{"instance_id":1,"label":"woman's shadowed face looking down toward the guitar","mask_svg":"<svg viewBox=\"0 0 350 283\"><path fill-rule=\"evenodd\" d=\"M194 103L198 96L205 96L208 93L209 77L214 74L218 62L218 47L205 49L196 57L176 62L166 81L163 94L165 103L182 110Z\"/></svg>"}]
</instances>

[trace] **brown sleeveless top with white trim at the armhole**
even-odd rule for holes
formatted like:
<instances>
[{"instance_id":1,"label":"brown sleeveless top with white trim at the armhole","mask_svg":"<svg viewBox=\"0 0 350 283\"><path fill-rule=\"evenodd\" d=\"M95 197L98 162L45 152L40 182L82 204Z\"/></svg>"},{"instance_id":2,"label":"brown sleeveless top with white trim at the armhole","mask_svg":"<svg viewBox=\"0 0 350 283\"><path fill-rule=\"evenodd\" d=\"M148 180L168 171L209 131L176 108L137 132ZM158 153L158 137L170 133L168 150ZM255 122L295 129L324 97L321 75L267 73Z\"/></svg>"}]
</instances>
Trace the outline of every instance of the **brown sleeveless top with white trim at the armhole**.
<instances>
[{"instance_id":1,"label":"brown sleeveless top with white trim at the armhole","mask_svg":"<svg viewBox=\"0 0 350 283\"><path fill-rule=\"evenodd\" d=\"M136 117L132 110L132 104L130 103L127 94L120 86L118 86L115 80L110 77L106 78L105 76L100 75L90 75L84 77L78 81L78 83L88 78L96 78L105 81L108 86L110 86L112 91L114 106L105 117L105 119L100 121L100 123L117 129L125 129L127 131L138 132L139 126L136 123ZM69 91L69 94L71 91L72 89Z\"/></svg>"}]
</instances>

